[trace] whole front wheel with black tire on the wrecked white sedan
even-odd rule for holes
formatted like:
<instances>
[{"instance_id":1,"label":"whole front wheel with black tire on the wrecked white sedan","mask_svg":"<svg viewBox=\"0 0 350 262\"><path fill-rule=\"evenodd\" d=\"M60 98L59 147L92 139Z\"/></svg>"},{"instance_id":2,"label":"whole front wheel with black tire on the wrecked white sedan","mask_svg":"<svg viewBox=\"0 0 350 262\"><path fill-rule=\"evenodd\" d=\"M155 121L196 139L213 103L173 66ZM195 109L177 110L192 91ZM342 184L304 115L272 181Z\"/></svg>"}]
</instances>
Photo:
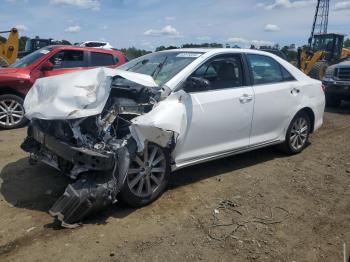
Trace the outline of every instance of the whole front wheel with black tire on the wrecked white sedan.
<instances>
[{"instance_id":1,"label":"whole front wheel with black tire on the wrecked white sedan","mask_svg":"<svg viewBox=\"0 0 350 262\"><path fill-rule=\"evenodd\" d=\"M154 143L148 143L144 152L148 152L146 158L143 153L131 161L128 175L120 191L120 199L131 207L146 206L155 201L165 191L169 181L168 150Z\"/></svg>"}]
</instances>

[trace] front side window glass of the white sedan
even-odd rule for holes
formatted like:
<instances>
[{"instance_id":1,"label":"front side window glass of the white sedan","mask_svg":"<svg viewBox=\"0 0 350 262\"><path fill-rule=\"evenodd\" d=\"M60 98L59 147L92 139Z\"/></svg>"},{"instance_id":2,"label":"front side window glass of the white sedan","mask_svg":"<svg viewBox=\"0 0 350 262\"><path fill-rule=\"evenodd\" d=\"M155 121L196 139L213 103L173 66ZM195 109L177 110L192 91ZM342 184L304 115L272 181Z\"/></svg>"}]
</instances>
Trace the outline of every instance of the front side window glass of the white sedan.
<instances>
[{"instance_id":1,"label":"front side window glass of the white sedan","mask_svg":"<svg viewBox=\"0 0 350 262\"><path fill-rule=\"evenodd\" d=\"M209 86L204 90L218 90L225 88L235 88L243 86L243 67L239 55L220 55L217 56L201 67L192 75L193 78L207 80Z\"/></svg>"}]
</instances>

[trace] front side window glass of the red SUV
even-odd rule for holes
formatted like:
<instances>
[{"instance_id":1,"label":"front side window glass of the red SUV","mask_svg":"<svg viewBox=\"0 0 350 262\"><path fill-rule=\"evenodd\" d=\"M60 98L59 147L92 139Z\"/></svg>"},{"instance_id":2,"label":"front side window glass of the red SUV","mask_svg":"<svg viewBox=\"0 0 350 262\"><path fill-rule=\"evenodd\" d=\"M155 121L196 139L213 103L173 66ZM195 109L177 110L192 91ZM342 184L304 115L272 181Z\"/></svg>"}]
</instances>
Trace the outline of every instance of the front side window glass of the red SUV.
<instances>
[{"instance_id":1,"label":"front side window glass of the red SUV","mask_svg":"<svg viewBox=\"0 0 350 262\"><path fill-rule=\"evenodd\" d=\"M49 61L54 69L87 67L83 51L64 50L52 56Z\"/></svg>"}]
</instances>

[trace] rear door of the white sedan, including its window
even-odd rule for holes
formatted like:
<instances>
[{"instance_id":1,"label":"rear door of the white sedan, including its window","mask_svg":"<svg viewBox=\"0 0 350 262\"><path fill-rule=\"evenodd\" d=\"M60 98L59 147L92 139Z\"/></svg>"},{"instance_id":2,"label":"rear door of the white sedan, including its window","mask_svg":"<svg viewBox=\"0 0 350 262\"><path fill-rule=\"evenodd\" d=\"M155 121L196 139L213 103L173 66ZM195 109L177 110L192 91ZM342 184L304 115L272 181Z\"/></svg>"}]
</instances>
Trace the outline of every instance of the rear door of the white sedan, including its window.
<instances>
[{"instance_id":1,"label":"rear door of the white sedan, including its window","mask_svg":"<svg viewBox=\"0 0 350 262\"><path fill-rule=\"evenodd\" d=\"M303 90L280 63L270 56L247 54L255 96L250 144L284 138L301 103Z\"/></svg>"}]
</instances>

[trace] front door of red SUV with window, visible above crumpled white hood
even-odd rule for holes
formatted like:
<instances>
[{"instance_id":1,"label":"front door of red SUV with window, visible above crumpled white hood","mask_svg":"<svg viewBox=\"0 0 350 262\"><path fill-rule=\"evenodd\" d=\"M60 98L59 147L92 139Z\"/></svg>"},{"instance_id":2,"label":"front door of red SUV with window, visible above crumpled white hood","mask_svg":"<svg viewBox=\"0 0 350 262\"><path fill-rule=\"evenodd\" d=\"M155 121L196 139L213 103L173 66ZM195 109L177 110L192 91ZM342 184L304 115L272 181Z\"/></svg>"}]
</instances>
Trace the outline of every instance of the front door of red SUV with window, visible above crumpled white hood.
<instances>
[{"instance_id":1,"label":"front door of red SUV with window, visible above crumpled white hood","mask_svg":"<svg viewBox=\"0 0 350 262\"><path fill-rule=\"evenodd\" d=\"M71 73L88 68L87 53L82 50L62 50L53 55L49 61L53 64L53 70L44 71L44 77Z\"/></svg>"}]
</instances>

